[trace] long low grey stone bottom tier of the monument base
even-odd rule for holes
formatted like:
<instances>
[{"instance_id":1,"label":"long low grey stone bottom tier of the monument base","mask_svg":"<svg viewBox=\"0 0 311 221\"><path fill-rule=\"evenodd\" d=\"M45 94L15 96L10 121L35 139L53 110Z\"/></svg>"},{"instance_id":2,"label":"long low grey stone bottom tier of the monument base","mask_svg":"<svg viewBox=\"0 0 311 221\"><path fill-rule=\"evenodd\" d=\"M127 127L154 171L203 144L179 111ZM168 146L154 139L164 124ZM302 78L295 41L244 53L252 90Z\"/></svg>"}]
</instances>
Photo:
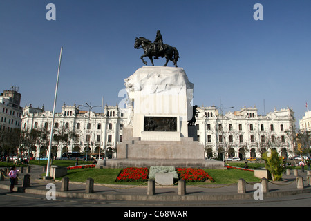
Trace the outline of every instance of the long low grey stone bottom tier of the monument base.
<instances>
[{"instance_id":1,"label":"long low grey stone bottom tier of the monument base","mask_svg":"<svg viewBox=\"0 0 311 221\"><path fill-rule=\"evenodd\" d=\"M150 166L175 166L175 167L192 167L201 169L227 169L223 161L217 160L185 160L185 159L173 159L173 160L129 160L129 159L108 159L99 160L97 167L109 167L109 168L122 168L127 166L136 167L150 167Z\"/></svg>"}]
</instances>

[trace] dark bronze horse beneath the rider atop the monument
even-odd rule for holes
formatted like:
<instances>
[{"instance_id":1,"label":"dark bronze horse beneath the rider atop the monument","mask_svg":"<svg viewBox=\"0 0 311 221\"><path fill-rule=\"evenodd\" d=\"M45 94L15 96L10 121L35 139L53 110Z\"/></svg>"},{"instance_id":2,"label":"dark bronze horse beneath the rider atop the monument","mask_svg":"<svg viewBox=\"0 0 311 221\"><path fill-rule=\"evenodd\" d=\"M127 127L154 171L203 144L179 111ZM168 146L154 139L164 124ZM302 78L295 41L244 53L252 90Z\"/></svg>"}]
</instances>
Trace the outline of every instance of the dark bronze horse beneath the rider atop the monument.
<instances>
[{"instance_id":1,"label":"dark bronze horse beneath the rider atop the monument","mask_svg":"<svg viewBox=\"0 0 311 221\"><path fill-rule=\"evenodd\" d=\"M144 57L149 57L152 66L153 64L153 56L154 57L165 57L167 59L167 62L164 64L164 66L167 66L167 63L169 61L172 61L173 64L177 68L177 61L179 58L178 50L175 47L169 46L168 44L163 44L163 49L162 50L157 50L154 43L144 37L136 37L135 39L135 49L142 48L144 49L144 55L140 57L142 59L142 62L147 65L147 62L144 61Z\"/></svg>"}]
</instances>

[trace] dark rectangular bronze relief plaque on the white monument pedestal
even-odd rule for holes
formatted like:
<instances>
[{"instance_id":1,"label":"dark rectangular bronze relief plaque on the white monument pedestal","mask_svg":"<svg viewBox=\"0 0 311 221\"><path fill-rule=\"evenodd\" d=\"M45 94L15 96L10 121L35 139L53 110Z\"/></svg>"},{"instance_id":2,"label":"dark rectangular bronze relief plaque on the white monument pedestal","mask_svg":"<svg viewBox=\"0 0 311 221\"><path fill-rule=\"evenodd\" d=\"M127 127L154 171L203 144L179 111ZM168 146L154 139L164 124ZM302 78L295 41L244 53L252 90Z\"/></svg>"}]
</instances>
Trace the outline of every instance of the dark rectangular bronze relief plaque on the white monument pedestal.
<instances>
[{"instance_id":1,"label":"dark rectangular bronze relief plaque on the white monument pedestal","mask_svg":"<svg viewBox=\"0 0 311 221\"><path fill-rule=\"evenodd\" d=\"M177 131L177 117L144 117L144 131Z\"/></svg>"}]
</instances>

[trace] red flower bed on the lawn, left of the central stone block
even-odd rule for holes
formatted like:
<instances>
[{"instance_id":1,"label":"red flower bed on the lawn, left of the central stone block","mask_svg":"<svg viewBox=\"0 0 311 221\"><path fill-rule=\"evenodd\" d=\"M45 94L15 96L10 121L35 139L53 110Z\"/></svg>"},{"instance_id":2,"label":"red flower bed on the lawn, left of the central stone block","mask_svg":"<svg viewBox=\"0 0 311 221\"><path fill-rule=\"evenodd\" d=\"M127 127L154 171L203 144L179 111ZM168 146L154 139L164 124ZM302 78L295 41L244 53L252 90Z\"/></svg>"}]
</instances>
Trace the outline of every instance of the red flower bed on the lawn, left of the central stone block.
<instances>
[{"instance_id":1,"label":"red flower bed on the lawn, left of the central stone block","mask_svg":"<svg viewBox=\"0 0 311 221\"><path fill-rule=\"evenodd\" d=\"M127 167L117 176L117 182L147 181L149 169L145 167Z\"/></svg>"}]
</instances>

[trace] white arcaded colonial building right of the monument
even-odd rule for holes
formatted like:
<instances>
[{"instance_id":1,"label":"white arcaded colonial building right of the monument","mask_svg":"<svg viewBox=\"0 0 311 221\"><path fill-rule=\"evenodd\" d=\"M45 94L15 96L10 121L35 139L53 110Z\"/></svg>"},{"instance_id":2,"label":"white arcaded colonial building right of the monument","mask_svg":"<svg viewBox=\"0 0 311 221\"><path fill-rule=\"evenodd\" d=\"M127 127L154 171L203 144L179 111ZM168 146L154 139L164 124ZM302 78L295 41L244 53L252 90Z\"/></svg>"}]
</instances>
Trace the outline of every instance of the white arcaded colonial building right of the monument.
<instances>
[{"instance_id":1,"label":"white arcaded colonial building right of the monument","mask_svg":"<svg viewBox=\"0 0 311 221\"><path fill-rule=\"evenodd\" d=\"M207 158L260 158L274 148L283 157L294 150L294 112L290 108L258 115L257 108L218 113L216 106L200 107L197 114L198 141Z\"/></svg>"}]
</instances>

